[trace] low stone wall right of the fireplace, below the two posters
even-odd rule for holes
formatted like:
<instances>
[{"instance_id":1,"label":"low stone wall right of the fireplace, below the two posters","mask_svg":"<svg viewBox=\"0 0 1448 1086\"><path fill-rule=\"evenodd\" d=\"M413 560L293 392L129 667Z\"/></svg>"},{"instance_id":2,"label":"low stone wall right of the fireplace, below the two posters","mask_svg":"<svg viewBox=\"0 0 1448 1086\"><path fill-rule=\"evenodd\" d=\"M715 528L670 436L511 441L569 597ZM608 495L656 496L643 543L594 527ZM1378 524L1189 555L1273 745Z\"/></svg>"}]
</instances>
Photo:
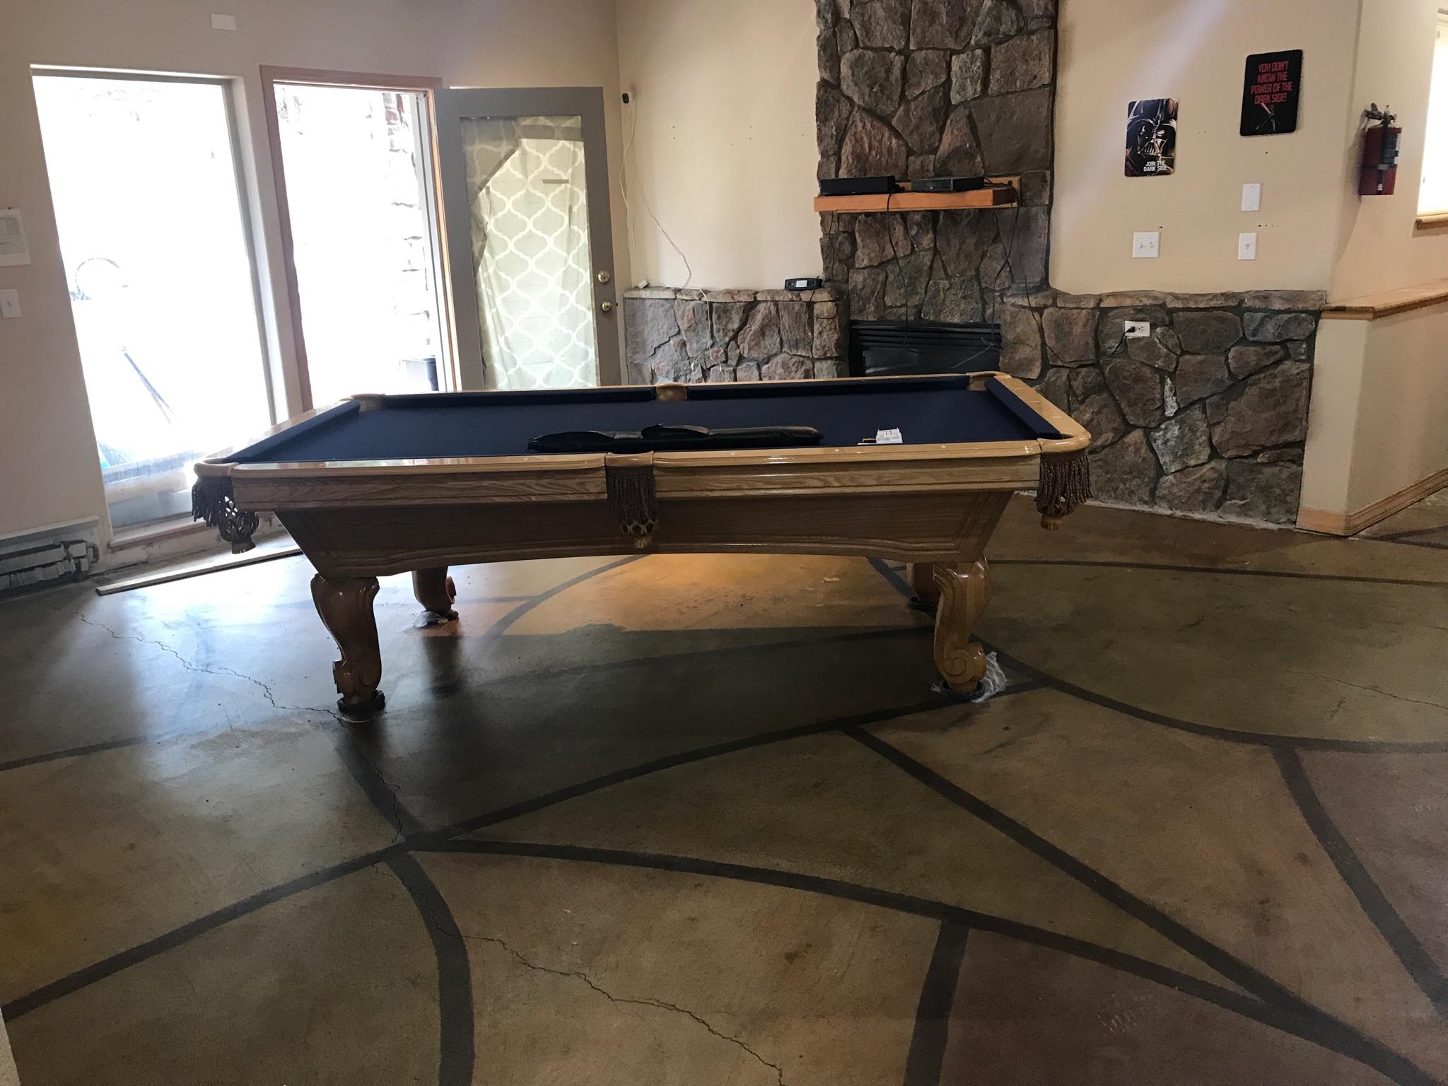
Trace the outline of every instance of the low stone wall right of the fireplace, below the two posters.
<instances>
[{"instance_id":1,"label":"low stone wall right of the fireplace, below the two posters","mask_svg":"<svg viewBox=\"0 0 1448 1086\"><path fill-rule=\"evenodd\" d=\"M1321 292L1040 291L1003 303L1001 366L1090 430L1098 498L1296 520ZM1153 334L1125 339L1128 320Z\"/></svg>"}]
</instances>

